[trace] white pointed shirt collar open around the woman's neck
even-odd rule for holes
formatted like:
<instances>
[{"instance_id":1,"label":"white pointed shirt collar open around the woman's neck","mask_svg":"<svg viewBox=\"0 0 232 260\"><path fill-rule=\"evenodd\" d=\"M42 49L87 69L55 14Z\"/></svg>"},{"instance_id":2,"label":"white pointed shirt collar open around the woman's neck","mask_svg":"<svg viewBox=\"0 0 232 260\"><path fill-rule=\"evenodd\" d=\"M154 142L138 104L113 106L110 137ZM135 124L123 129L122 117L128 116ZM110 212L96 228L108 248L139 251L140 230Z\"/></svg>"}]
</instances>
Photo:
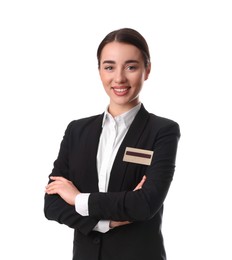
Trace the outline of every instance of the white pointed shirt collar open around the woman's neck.
<instances>
[{"instance_id":1,"label":"white pointed shirt collar open around the woman's neck","mask_svg":"<svg viewBox=\"0 0 232 260\"><path fill-rule=\"evenodd\" d=\"M127 128L129 128L132 121L134 120L136 114L139 112L139 110L141 108L141 103L139 103L135 107L131 108L129 111L116 116L115 118L113 118L112 115L108 112L108 107L109 106L107 106L107 108L104 112L104 116L103 116L103 120L102 120L102 127L104 127L105 122L108 118L111 121L114 120L116 123L122 122Z\"/></svg>"}]
</instances>

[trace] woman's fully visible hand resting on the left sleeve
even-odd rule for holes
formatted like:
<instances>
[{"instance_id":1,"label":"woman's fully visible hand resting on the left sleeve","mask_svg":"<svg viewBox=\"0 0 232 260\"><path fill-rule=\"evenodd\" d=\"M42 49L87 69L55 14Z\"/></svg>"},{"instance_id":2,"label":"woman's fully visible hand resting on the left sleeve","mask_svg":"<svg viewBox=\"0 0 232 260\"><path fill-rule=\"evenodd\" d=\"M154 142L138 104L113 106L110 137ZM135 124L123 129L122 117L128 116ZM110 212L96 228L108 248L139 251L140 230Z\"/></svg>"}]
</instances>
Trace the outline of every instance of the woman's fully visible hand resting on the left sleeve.
<instances>
[{"instance_id":1,"label":"woman's fully visible hand resting on the left sleeve","mask_svg":"<svg viewBox=\"0 0 232 260\"><path fill-rule=\"evenodd\" d=\"M51 176L50 179L52 182L46 186L45 192L49 195L58 194L64 201L74 206L75 198L80 193L76 186L64 177Z\"/></svg>"}]
</instances>

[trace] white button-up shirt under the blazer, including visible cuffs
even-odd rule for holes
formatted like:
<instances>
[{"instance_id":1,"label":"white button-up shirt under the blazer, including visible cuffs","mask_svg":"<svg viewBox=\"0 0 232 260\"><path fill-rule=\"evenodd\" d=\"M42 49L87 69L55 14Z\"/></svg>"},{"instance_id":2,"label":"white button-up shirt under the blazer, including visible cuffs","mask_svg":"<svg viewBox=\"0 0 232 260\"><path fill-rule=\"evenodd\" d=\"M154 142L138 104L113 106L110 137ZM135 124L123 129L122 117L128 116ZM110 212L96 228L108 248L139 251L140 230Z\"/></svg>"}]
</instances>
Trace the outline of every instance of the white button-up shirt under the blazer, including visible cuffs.
<instances>
[{"instance_id":1,"label":"white button-up shirt under the blazer, including visible cuffs","mask_svg":"<svg viewBox=\"0 0 232 260\"><path fill-rule=\"evenodd\" d=\"M108 190L110 172L115 156L140 107L141 103L114 118L107 110L105 111L97 152L98 187L100 192L107 192ZM89 215L89 195L89 193L80 193L76 196L75 208L82 216ZM109 222L109 220L99 221L94 230L102 233L109 231Z\"/></svg>"}]
</instances>

